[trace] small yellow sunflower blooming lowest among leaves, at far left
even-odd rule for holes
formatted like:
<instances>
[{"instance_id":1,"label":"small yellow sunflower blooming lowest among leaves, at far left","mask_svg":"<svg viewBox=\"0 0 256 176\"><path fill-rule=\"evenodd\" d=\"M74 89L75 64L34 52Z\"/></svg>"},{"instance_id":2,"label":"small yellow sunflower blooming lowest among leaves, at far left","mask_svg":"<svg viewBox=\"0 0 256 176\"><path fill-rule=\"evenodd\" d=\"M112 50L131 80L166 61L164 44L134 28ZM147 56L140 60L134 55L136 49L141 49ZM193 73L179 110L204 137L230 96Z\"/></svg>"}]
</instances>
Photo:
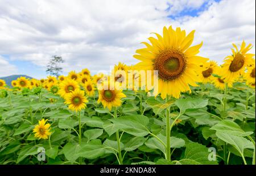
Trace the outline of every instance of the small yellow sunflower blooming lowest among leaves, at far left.
<instances>
[{"instance_id":1,"label":"small yellow sunflower blooming lowest among leaves, at far left","mask_svg":"<svg viewBox=\"0 0 256 176\"><path fill-rule=\"evenodd\" d=\"M35 138L39 139L48 139L48 136L51 135L49 123L46 123L47 120L42 119L38 122L38 125L35 126L33 132L35 133Z\"/></svg>"}]
</instances>

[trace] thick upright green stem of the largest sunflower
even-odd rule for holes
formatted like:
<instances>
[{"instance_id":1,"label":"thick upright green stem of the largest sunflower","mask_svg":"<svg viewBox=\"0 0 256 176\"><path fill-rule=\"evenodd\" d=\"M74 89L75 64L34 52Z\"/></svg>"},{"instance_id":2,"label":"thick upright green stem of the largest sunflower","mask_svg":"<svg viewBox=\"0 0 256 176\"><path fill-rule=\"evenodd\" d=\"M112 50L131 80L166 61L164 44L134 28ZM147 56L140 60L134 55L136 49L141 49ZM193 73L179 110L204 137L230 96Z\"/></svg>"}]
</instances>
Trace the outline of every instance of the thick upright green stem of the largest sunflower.
<instances>
[{"instance_id":1,"label":"thick upright green stem of the largest sunflower","mask_svg":"<svg viewBox=\"0 0 256 176\"><path fill-rule=\"evenodd\" d=\"M168 102L169 97L166 97ZM171 161L171 129L170 129L170 107L166 108L166 160Z\"/></svg>"}]
</instances>

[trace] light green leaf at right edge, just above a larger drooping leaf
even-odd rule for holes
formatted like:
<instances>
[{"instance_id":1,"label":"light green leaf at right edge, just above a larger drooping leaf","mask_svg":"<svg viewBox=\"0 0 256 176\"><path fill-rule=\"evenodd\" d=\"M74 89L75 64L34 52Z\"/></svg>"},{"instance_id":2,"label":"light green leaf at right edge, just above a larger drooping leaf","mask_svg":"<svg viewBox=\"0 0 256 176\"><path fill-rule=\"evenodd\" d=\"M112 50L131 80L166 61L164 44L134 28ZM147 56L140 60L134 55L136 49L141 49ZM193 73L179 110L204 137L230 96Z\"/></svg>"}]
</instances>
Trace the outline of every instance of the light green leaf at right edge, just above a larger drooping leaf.
<instances>
[{"instance_id":1,"label":"light green leaf at right edge, just above a larger drooping leaf","mask_svg":"<svg viewBox=\"0 0 256 176\"><path fill-rule=\"evenodd\" d=\"M214 125L212 128L210 128L210 130L216 130L218 132L228 133L234 136L249 136L253 134L252 131L243 131L236 122L226 119Z\"/></svg>"}]
</instances>

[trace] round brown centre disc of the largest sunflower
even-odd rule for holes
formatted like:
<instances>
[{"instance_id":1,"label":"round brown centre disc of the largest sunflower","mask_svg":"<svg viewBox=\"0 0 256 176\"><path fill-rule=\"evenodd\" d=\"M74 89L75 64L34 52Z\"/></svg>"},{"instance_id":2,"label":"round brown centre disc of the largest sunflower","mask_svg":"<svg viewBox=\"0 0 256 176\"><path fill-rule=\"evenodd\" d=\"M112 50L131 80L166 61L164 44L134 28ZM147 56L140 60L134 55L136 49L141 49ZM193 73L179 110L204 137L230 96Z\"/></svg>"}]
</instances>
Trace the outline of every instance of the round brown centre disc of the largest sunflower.
<instances>
[{"instance_id":1,"label":"round brown centre disc of the largest sunflower","mask_svg":"<svg viewBox=\"0 0 256 176\"><path fill-rule=\"evenodd\" d=\"M156 55L154 70L158 70L160 79L174 80L183 74L186 57L180 50L166 49Z\"/></svg>"}]
</instances>

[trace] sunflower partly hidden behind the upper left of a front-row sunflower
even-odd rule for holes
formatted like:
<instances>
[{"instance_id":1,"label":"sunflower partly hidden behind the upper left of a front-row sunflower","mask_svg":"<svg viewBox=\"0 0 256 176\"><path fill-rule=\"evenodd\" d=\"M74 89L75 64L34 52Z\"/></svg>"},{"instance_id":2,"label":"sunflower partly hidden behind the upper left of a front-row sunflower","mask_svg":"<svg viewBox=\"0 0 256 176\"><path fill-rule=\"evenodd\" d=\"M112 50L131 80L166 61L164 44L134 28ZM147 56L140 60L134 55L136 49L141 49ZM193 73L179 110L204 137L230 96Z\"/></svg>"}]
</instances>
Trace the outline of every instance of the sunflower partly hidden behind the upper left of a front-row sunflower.
<instances>
[{"instance_id":1,"label":"sunflower partly hidden behind the upper left of a front-row sunflower","mask_svg":"<svg viewBox=\"0 0 256 176\"><path fill-rule=\"evenodd\" d=\"M79 89L79 84L77 83L77 81L72 79L66 79L60 83L59 94L61 97L64 97L65 95L67 95L67 93L71 93L76 89Z\"/></svg>"}]
</instances>

